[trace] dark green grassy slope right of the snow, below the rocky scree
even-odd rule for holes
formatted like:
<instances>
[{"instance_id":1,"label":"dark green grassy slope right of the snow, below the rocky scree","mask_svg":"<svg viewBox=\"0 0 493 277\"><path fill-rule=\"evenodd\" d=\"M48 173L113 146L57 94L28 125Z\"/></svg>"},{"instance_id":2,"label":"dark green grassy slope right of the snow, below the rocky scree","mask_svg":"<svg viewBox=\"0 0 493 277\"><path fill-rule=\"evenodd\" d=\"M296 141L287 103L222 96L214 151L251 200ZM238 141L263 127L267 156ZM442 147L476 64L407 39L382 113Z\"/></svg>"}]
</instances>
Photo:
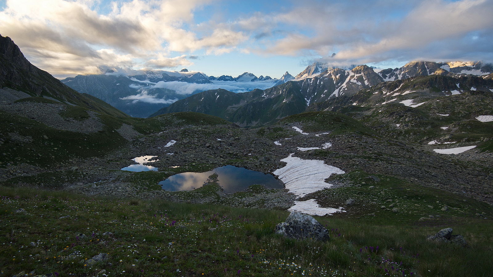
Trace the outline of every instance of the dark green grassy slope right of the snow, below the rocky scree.
<instances>
[{"instance_id":1,"label":"dark green grassy slope right of the snow, below the rocky scree","mask_svg":"<svg viewBox=\"0 0 493 277\"><path fill-rule=\"evenodd\" d=\"M361 186L324 189L309 194L302 200L317 199L323 207L348 208L345 202L352 198L355 204L348 208L348 212L338 213L336 217L358 218L360 222L378 221L386 225L414 224L419 218L429 218L429 215L435 217L426 220L426 223L431 224L455 221L463 217L493 216L493 207L469 197L389 176L378 175L381 180L375 182L368 178L369 175L363 171L335 175L331 180L344 178L348 183ZM381 208L382 206L385 208ZM442 210L445 206L449 208L446 211ZM392 211L393 208L397 211Z\"/></svg>"}]
</instances>

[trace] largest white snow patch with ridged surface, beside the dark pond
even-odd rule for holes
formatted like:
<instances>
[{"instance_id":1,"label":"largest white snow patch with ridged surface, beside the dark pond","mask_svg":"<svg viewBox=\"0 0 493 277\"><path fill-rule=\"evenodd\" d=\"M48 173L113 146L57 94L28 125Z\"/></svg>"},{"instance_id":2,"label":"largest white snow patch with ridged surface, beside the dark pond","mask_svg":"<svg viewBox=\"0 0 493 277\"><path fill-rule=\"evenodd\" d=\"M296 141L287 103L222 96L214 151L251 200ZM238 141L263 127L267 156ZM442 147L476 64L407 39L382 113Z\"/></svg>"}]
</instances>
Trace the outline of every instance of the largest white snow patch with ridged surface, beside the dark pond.
<instances>
[{"instance_id":1,"label":"largest white snow patch with ridged surface, beside the dark pond","mask_svg":"<svg viewBox=\"0 0 493 277\"><path fill-rule=\"evenodd\" d=\"M294 154L294 153L293 153ZM323 188L331 187L325 179L332 174L343 174L343 170L329 166L320 160L303 160L289 154L282 159L287 165L274 172L290 192L304 196Z\"/></svg>"}]
</instances>

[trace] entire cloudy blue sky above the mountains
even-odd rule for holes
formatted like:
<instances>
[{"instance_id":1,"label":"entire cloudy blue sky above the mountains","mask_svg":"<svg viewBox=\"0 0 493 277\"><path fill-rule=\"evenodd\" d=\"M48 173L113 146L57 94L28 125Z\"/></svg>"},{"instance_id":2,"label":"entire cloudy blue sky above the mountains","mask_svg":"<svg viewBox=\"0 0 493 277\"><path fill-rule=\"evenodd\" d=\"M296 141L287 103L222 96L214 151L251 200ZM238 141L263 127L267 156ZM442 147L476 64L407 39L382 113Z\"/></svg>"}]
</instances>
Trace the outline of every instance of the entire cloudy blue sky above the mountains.
<instances>
[{"instance_id":1,"label":"entire cloudy blue sky above the mountains","mask_svg":"<svg viewBox=\"0 0 493 277\"><path fill-rule=\"evenodd\" d=\"M296 75L313 62L493 61L493 0L0 0L0 34L58 78L102 68Z\"/></svg>"}]
</instances>

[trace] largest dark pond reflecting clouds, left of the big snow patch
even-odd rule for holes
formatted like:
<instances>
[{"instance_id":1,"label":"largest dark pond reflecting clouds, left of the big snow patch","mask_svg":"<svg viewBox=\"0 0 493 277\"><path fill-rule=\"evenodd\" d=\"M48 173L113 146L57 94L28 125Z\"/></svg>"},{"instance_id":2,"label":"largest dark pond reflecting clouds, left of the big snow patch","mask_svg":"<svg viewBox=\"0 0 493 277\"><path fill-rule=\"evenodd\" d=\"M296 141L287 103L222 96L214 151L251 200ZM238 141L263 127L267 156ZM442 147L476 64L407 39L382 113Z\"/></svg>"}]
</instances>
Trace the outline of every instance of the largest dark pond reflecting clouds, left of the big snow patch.
<instances>
[{"instance_id":1,"label":"largest dark pond reflecting clouds, left of the big snow patch","mask_svg":"<svg viewBox=\"0 0 493 277\"><path fill-rule=\"evenodd\" d=\"M219 185L221 185L225 193L244 191L253 184L264 185L274 189L284 188L282 182L271 174L264 174L235 166L224 166L203 173L179 173L168 177L166 180L159 182L159 184L164 190L168 191L193 190L201 187L213 173L217 173Z\"/></svg>"}]
</instances>

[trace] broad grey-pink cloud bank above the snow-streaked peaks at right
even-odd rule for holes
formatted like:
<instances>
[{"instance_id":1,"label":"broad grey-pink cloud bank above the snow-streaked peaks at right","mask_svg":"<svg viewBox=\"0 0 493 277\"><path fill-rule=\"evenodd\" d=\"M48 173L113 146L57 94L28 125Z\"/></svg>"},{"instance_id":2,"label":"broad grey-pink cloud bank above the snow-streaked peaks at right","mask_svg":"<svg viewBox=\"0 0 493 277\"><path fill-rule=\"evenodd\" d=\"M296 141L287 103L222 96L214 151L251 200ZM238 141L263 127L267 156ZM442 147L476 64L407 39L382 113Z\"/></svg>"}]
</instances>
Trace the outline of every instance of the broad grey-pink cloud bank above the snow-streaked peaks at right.
<instances>
[{"instance_id":1,"label":"broad grey-pink cloud bank above the snow-streaked peaks at right","mask_svg":"<svg viewBox=\"0 0 493 277\"><path fill-rule=\"evenodd\" d=\"M251 52L268 55L329 57L335 52L326 60L346 65L423 58L485 60L493 56L491 10L491 0L312 0L235 24L264 39L251 45ZM265 39L270 30L284 32Z\"/></svg>"}]
</instances>

